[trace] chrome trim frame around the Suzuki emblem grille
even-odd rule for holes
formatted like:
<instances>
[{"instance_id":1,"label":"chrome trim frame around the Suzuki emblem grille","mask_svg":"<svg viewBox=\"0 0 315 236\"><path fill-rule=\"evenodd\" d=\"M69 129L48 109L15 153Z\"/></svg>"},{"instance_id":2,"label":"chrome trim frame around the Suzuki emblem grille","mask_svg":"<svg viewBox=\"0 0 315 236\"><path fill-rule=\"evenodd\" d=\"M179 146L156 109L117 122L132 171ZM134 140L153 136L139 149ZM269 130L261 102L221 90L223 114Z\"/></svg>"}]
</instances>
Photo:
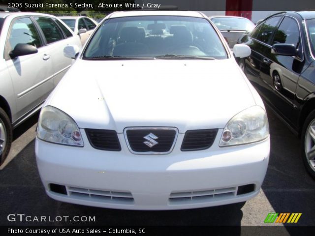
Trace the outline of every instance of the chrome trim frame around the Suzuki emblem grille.
<instances>
[{"instance_id":1,"label":"chrome trim frame around the Suzuki emblem grille","mask_svg":"<svg viewBox=\"0 0 315 236\"><path fill-rule=\"evenodd\" d=\"M158 151L146 151L146 152L138 152L138 151L133 151L132 148L129 145L129 141L127 138L127 130L143 130L143 129L148 129L148 130L175 130L175 137L174 137L174 141L173 144L171 146L171 148L168 151L164 151L164 152L158 152ZM175 127L126 127L124 129L124 137L126 140L126 144L127 147L129 149L129 151L133 154L139 154L139 155L163 155L163 154L169 154L172 152L172 150L174 149L177 137L178 137L178 129Z\"/></svg>"}]
</instances>

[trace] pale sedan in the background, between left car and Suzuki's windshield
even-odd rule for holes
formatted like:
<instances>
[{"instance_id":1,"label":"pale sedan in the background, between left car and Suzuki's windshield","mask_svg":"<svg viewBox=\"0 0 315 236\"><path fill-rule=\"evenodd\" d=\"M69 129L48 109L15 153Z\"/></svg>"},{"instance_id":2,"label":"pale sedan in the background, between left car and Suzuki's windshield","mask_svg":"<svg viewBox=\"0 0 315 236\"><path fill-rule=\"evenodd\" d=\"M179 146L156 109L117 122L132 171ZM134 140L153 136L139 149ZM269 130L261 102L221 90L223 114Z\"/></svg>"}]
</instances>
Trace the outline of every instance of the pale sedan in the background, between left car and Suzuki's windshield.
<instances>
[{"instance_id":1,"label":"pale sedan in the background, between left car and Suzuki's windshield","mask_svg":"<svg viewBox=\"0 0 315 236\"><path fill-rule=\"evenodd\" d=\"M95 20L85 16L60 16L59 19L80 36L82 45L98 25Z\"/></svg>"}]
</instances>

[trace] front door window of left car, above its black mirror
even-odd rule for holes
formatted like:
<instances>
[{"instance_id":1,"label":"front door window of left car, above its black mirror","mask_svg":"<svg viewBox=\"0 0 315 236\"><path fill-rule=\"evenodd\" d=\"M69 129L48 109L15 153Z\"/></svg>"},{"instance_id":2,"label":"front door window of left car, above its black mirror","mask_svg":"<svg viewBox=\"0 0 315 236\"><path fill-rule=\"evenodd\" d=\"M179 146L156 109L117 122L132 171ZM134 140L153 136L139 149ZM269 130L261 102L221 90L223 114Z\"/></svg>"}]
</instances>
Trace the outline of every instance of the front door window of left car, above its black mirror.
<instances>
[{"instance_id":1,"label":"front door window of left car, above its black mirror","mask_svg":"<svg viewBox=\"0 0 315 236\"><path fill-rule=\"evenodd\" d=\"M5 44L5 55L8 55L18 43L30 44L36 48L42 46L39 34L29 17L14 21Z\"/></svg>"}]
</instances>

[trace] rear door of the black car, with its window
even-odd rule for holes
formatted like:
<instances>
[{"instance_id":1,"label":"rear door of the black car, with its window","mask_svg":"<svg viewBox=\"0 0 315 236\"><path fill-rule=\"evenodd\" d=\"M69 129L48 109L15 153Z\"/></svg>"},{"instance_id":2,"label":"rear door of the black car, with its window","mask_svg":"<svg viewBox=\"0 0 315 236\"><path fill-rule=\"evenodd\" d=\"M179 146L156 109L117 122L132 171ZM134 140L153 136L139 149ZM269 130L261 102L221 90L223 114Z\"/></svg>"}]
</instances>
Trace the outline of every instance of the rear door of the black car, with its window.
<instances>
[{"instance_id":1,"label":"rear door of the black car, with its window","mask_svg":"<svg viewBox=\"0 0 315 236\"><path fill-rule=\"evenodd\" d=\"M265 94L266 91L266 85L260 78L260 71L264 69L261 68L265 58L264 53L266 49L271 47L268 45L268 40L274 33L281 18L282 16L275 16L267 19L264 23L260 24L258 28L253 30L246 43L252 50L251 56L245 60L246 75L262 94Z\"/></svg>"}]
</instances>

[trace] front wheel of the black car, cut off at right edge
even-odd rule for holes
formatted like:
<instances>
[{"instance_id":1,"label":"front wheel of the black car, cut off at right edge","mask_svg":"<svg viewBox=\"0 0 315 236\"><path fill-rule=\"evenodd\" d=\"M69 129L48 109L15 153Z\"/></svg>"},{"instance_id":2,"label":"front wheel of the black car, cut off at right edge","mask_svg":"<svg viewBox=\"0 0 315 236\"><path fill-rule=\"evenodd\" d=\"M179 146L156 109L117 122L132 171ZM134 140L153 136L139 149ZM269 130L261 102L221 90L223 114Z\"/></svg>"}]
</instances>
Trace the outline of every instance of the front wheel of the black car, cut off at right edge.
<instances>
[{"instance_id":1,"label":"front wheel of the black car, cut off at right edge","mask_svg":"<svg viewBox=\"0 0 315 236\"><path fill-rule=\"evenodd\" d=\"M303 163L311 177L315 178L315 111L305 120L302 139Z\"/></svg>"}]
</instances>

